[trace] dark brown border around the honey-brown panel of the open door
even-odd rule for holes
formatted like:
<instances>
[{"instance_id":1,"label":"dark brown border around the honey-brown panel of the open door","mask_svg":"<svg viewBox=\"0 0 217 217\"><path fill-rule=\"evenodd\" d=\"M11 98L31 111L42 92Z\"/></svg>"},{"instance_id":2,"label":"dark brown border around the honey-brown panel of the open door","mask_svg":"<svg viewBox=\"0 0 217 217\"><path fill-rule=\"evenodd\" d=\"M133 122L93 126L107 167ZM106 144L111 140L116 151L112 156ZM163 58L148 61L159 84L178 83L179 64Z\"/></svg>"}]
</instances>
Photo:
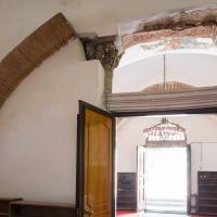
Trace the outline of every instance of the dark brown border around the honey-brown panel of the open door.
<instances>
[{"instance_id":1,"label":"dark brown border around the honey-brown panel of the open door","mask_svg":"<svg viewBox=\"0 0 217 217\"><path fill-rule=\"evenodd\" d=\"M82 131L85 127L85 110L89 108L98 114L102 114L107 117L112 117L112 216L115 217L116 210L116 199L115 199L115 154L116 154L116 146L115 146L115 138L116 138L116 128L115 128L115 117L112 113L107 113L97 106L93 106L87 102L81 100L78 101L79 103L79 114L77 115L77 165L76 165L76 217L82 217L82 209L84 209L84 191L85 191L85 164L84 164L84 156L85 156L85 133Z\"/></svg>"}]
</instances>

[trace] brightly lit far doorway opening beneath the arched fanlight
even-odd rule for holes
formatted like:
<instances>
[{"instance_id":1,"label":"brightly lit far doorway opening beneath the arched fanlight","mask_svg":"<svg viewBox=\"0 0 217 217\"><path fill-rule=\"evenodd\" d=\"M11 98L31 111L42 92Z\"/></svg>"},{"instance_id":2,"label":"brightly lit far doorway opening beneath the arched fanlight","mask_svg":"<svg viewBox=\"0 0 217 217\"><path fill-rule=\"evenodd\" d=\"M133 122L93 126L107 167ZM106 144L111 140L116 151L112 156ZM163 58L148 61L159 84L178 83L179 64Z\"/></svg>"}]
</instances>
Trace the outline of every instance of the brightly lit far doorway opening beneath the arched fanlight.
<instances>
[{"instance_id":1,"label":"brightly lit far doorway opening beneath the arched fanlight","mask_svg":"<svg viewBox=\"0 0 217 217\"><path fill-rule=\"evenodd\" d=\"M188 149L145 149L145 210L186 214Z\"/></svg>"}]
</instances>

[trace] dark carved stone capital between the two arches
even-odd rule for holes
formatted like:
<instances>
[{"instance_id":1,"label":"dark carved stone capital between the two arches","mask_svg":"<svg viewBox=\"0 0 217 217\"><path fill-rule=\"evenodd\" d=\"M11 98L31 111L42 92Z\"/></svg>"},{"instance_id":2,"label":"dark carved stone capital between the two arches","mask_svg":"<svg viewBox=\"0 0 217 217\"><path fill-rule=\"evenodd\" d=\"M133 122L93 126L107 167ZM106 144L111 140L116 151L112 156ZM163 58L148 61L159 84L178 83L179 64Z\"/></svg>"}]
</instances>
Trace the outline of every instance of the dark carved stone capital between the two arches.
<instances>
[{"instance_id":1,"label":"dark carved stone capital between the two arches","mask_svg":"<svg viewBox=\"0 0 217 217\"><path fill-rule=\"evenodd\" d=\"M81 39L87 60L99 60L105 71L113 71L120 60L115 40L116 36Z\"/></svg>"}]
</instances>

